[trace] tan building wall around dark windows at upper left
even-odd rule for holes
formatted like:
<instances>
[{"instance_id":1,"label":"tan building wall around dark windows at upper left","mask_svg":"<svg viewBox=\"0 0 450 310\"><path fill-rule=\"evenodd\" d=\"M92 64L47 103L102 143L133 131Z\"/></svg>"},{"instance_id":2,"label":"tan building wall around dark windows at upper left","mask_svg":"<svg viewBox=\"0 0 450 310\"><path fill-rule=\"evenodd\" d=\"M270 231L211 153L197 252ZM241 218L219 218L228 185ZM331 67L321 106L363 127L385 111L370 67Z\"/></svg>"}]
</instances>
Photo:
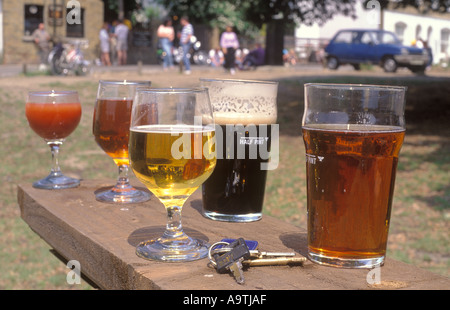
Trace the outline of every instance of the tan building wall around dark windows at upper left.
<instances>
[{"instance_id":1,"label":"tan building wall around dark windows at upper left","mask_svg":"<svg viewBox=\"0 0 450 310\"><path fill-rule=\"evenodd\" d=\"M84 51L86 58L94 59L98 54L98 33L103 23L103 1L78 0L84 9L84 37L68 38L66 36L65 0L3 0L3 63L38 63L37 48L30 35L25 34L25 5L43 6L44 24L54 41L82 40L88 43ZM50 25L49 6L54 3L62 6L61 25ZM71 8L71 7L69 7Z\"/></svg>"}]
</instances>

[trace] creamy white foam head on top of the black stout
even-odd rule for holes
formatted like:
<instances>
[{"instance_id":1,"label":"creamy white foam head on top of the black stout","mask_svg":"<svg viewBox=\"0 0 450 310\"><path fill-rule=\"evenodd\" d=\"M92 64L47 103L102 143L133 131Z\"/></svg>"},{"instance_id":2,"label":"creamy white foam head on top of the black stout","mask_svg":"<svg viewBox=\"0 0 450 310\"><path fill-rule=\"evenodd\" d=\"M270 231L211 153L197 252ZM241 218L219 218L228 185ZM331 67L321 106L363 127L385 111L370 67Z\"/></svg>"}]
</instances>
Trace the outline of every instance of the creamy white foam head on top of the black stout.
<instances>
[{"instance_id":1,"label":"creamy white foam head on top of the black stout","mask_svg":"<svg viewBox=\"0 0 450 310\"><path fill-rule=\"evenodd\" d=\"M249 80L202 80L208 87L214 121L226 124L274 124L278 83Z\"/></svg>"}]
</instances>

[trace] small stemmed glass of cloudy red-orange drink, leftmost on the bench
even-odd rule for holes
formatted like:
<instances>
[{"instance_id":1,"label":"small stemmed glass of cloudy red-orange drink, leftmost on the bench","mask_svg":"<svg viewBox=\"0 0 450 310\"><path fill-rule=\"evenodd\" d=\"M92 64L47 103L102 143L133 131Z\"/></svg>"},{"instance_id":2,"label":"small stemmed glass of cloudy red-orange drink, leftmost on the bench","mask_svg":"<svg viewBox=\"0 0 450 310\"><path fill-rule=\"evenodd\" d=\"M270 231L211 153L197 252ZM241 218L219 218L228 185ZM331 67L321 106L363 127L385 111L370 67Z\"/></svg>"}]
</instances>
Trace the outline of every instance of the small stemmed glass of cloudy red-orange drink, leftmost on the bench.
<instances>
[{"instance_id":1,"label":"small stemmed glass of cloudy red-orange drink, leftmost on the bench","mask_svg":"<svg viewBox=\"0 0 450 310\"><path fill-rule=\"evenodd\" d=\"M59 167L59 149L77 128L81 104L76 91L30 91L25 114L33 131L43 138L52 152L50 174L33 183L41 189L63 189L80 185L80 180L65 176Z\"/></svg>"}]
</instances>

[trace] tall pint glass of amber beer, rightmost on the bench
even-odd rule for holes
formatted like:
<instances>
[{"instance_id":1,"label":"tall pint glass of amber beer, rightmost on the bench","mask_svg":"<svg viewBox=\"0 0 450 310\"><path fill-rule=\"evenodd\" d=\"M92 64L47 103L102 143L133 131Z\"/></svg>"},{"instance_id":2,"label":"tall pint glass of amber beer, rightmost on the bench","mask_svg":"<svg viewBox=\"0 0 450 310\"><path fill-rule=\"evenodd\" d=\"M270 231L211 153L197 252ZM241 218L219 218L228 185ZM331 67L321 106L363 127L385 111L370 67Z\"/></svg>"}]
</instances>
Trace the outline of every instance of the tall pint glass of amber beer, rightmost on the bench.
<instances>
[{"instance_id":1,"label":"tall pint glass of amber beer, rightmost on the bench","mask_svg":"<svg viewBox=\"0 0 450 310\"><path fill-rule=\"evenodd\" d=\"M405 135L405 87L305 84L308 256L382 266Z\"/></svg>"}]
</instances>

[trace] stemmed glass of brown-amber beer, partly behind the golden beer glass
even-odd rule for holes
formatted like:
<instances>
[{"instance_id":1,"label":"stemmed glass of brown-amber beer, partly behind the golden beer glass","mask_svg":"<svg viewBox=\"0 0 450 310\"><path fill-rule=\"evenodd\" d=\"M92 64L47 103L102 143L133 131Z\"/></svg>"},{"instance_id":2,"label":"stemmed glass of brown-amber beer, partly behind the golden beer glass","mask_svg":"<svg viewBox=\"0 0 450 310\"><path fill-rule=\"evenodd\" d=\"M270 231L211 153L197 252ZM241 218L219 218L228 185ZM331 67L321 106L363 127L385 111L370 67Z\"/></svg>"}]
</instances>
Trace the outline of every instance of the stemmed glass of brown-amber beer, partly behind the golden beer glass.
<instances>
[{"instance_id":1,"label":"stemmed glass of brown-amber beer, partly behind the golden beer glass","mask_svg":"<svg viewBox=\"0 0 450 310\"><path fill-rule=\"evenodd\" d=\"M130 184L128 159L131 108L136 88L149 87L150 84L150 81L99 81L93 134L100 148L118 166L119 176L112 188L96 192L98 201L139 203L150 199L148 192Z\"/></svg>"}]
</instances>

